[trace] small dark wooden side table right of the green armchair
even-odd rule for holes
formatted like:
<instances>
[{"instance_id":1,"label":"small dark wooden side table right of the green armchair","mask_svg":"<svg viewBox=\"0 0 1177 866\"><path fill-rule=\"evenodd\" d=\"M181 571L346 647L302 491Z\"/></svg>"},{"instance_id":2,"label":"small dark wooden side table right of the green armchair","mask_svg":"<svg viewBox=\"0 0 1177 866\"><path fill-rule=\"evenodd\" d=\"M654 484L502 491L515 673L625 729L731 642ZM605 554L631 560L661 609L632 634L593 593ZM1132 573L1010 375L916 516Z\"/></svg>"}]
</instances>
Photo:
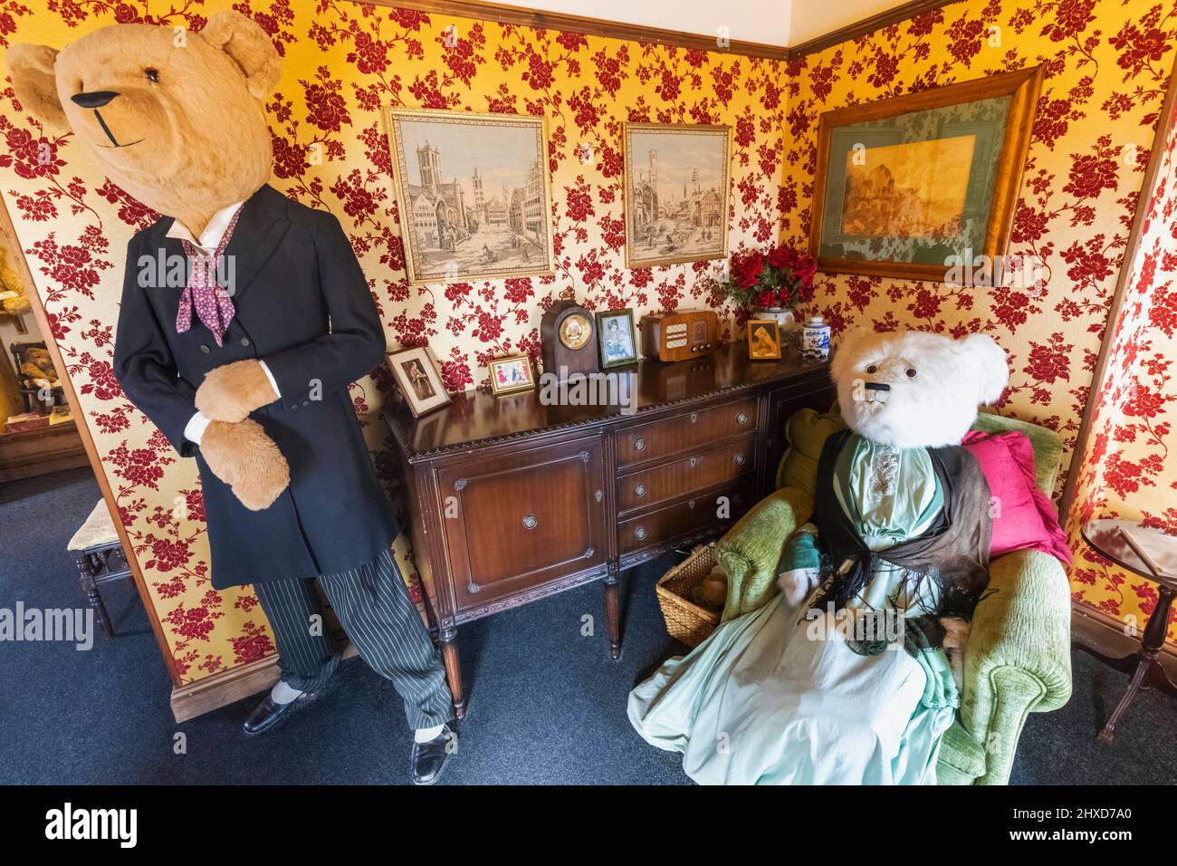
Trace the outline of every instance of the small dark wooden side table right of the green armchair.
<instances>
[{"instance_id":1,"label":"small dark wooden side table right of the green armchair","mask_svg":"<svg viewBox=\"0 0 1177 866\"><path fill-rule=\"evenodd\" d=\"M1099 732L1099 739L1111 743L1116 735L1116 723L1142 688L1151 687L1177 696L1177 687L1157 660L1169 630L1173 596L1177 595L1177 536L1143 527L1136 521L1093 520L1083 525L1083 540L1100 556L1157 584L1157 606L1141 635L1141 652L1113 659L1088 649L1117 670L1132 674L1128 692L1119 699Z\"/></svg>"}]
</instances>

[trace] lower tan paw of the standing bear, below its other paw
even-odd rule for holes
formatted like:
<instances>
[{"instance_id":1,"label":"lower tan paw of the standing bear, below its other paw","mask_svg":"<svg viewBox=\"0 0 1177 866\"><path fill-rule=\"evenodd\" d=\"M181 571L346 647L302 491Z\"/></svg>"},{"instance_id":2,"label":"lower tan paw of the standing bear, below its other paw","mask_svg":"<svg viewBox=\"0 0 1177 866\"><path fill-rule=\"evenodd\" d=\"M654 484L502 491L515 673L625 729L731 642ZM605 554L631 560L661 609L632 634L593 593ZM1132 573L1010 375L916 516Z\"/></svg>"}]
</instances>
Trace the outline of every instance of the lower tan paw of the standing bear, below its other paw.
<instances>
[{"instance_id":1,"label":"lower tan paw of the standing bear, below its other paw","mask_svg":"<svg viewBox=\"0 0 1177 866\"><path fill-rule=\"evenodd\" d=\"M286 458L255 421L211 422L200 438L200 454L251 511L270 508L291 482Z\"/></svg>"}]
</instances>

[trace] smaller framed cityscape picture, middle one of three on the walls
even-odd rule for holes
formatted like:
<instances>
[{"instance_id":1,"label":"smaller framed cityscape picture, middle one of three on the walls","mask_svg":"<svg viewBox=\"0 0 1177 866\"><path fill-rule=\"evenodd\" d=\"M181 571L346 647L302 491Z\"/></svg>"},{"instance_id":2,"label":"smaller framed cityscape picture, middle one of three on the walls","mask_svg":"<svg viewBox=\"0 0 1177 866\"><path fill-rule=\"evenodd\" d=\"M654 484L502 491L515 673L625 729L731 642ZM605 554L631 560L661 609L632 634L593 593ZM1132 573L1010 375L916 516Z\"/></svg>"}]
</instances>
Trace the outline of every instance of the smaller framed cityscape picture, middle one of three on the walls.
<instances>
[{"instance_id":1,"label":"smaller framed cityscape picture, middle one of three on the walls","mask_svg":"<svg viewBox=\"0 0 1177 866\"><path fill-rule=\"evenodd\" d=\"M625 124L625 266L727 257L730 126Z\"/></svg>"}]
</instances>

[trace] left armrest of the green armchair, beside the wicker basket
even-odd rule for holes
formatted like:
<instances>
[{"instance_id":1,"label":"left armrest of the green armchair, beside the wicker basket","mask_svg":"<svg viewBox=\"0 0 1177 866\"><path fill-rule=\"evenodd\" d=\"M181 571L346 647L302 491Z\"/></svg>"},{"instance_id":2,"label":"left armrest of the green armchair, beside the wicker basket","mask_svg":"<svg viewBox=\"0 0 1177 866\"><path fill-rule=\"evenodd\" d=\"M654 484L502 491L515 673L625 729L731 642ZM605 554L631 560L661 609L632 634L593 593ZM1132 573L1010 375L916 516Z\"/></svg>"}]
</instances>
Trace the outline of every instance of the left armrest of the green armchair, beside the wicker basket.
<instances>
[{"instance_id":1,"label":"left armrest of the green armchair, beside the wicker basket","mask_svg":"<svg viewBox=\"0 0 1177 866\"><path fill-rule=\"evenodd\" d=\"M784 487L760 500L719 540L716 560L727 575L723 622L756 610L772 597L780 551L812 514L812 496Z\"/></svg>"}]
</instances>

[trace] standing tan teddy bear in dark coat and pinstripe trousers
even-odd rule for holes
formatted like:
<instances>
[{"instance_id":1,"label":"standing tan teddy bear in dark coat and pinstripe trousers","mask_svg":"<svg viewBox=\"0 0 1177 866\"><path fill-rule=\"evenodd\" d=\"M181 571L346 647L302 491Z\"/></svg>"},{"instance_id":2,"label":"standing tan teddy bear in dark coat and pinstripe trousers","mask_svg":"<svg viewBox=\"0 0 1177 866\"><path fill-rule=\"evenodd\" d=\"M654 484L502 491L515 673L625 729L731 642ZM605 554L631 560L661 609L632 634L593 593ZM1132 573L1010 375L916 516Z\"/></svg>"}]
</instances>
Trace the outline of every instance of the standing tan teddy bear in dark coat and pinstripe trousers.
<instances>
[{"instance_id":1,"label":"standing tan teddy bear in dark coat and pinstripe trousers","mask_svg":"<svg viewBox=\"0 0 1177 866\"><path fill-rule=\"evenodd\" d=\"M308 705L339 663L312 628L318 582L400 693L413 781L435 781L455 742L451 696L347 394L384 361L384 329L339 220L267 184L273 42L220 12L199 34L114 25L60 52L15 45L8 71L26 111L71 128L107 177L166 214L127 246L114 370L197 461L213 586L253 584L273 628L281 681L245 732Z\"/></svg>"}]
</instances>

